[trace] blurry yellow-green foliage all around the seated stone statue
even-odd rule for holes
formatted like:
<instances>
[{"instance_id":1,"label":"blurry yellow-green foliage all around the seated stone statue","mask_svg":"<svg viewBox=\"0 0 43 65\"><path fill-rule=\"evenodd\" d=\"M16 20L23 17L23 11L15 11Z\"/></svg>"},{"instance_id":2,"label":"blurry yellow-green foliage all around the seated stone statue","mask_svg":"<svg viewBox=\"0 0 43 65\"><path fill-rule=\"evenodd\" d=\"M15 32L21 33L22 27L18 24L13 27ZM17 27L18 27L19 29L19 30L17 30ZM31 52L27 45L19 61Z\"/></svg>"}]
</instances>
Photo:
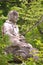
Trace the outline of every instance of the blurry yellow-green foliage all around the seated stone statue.
<instances>
[{"instance_id":1,"label":"blurry yellow-green foliage all around the seated stone statue","mask_svg":"<svg viewBox=\"0 0 43 65\"><path fill-rule=\"evenodd\" d=\"M43 0L11 0L9 2L0 2L0 65L9 65L8 59L12 59L12 55L6 56L3 50L6 46L10 45L8 36L2 37L2 25L7 19L7 14L10 10L16 10L19 13L19 20L17 22L20 33L23 34L35 24L43 15ZM38 27L33 28L31 31L25 34L26 41L40 50L38 62L27 60L26 65L43 65L43 34L39 30L43 31L43 22Z\"/></svg>"}]
</instances>

